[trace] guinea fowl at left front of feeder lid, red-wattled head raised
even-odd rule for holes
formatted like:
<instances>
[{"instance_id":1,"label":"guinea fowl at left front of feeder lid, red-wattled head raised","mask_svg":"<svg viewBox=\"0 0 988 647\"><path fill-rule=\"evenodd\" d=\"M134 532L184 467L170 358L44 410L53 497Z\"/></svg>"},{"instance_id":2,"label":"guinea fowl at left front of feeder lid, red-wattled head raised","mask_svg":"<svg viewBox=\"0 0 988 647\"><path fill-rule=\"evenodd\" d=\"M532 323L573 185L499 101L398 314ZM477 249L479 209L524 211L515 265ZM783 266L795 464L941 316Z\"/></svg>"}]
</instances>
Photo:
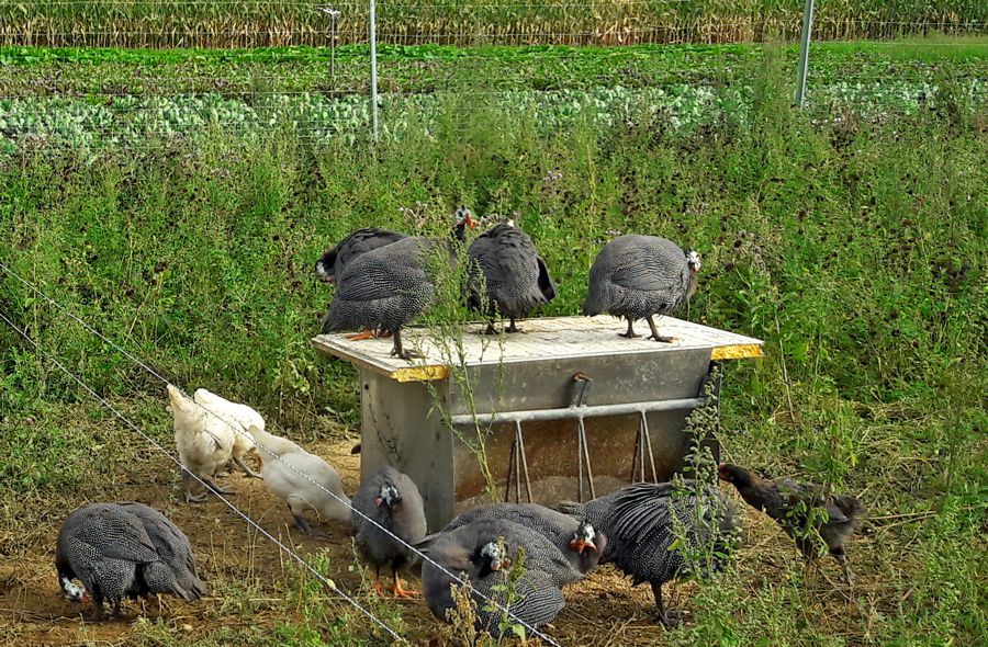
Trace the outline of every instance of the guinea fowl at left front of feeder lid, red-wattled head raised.
<instances>
[{"instance_id":1,"label":"guinea fowl at left front of feeder lid, red-wattled head raised","mask_svg":"<svg viewBox=\"0 0 988 647\"><path fill-rule=\"evenodd\" d=\"M452 231L457 243L465 240L465 227L476 227L476 223L469 209L460 207ZM394 334L392 355L403 360L417 356L402 345L401 329L435 300L436 286L427 271L430 253L442 253L441 243L416 236L355 259L337 276L339 290L323 320L322 332L379 328Z\"/></svg>"}]
</instances>

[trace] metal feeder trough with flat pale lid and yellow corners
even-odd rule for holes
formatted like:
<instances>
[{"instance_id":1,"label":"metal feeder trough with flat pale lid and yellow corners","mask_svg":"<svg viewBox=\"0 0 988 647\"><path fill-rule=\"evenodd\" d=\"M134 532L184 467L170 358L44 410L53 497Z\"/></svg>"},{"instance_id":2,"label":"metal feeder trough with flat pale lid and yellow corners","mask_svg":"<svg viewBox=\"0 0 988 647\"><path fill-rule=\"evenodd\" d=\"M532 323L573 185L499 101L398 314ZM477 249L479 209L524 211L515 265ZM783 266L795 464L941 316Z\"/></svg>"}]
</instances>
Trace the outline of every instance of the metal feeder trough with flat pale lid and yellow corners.
<instances>
[{"instance_id":1,"label":"metal feeder trough with flat pale lid and yellow corners","mask_svg":"<svg viewBox=\"0 0 988 647\"><path fill-rule=\"evenodd\" d=\"M672 317L660 328L678 341L625 339L607 317L559 317L503 340L471 325L461 343L409 328L405 345L423 354L413 362L391 357L390 339L323 334L313 345L360 371L361 476L385 464L406 473L437 529L487 500L489 480L506 499L540 503L667 480L711 366L761 356L762 341ZM485 464L471 449L479 440Z\"/></svg>"}]
</instances>

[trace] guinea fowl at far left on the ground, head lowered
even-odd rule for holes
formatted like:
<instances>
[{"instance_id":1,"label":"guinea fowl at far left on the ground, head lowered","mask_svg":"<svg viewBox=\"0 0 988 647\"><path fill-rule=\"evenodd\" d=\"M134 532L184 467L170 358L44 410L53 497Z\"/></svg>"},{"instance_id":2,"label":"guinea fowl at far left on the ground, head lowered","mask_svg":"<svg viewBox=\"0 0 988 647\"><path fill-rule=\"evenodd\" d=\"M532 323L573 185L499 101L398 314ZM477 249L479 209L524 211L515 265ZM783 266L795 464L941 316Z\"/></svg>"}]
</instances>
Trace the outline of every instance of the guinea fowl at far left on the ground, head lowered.
<instances>
[{"instance_id":1,"label":"guinea fowl at far left on the ground, head lowered","mask_svg":"<svg viewBox=\"0 0 988 647\"><path fill-rule=\"evenodd\" d=\"M104 601L117 615L124 597L170 593L191 602L205 592L194 574L189 579L187 569L177 572L168 556L158 553L142 518L116 503L91 503L68 515L58 533L55 569L67 599L92 597L97 618Z\"/></svg>"}]
</instances>

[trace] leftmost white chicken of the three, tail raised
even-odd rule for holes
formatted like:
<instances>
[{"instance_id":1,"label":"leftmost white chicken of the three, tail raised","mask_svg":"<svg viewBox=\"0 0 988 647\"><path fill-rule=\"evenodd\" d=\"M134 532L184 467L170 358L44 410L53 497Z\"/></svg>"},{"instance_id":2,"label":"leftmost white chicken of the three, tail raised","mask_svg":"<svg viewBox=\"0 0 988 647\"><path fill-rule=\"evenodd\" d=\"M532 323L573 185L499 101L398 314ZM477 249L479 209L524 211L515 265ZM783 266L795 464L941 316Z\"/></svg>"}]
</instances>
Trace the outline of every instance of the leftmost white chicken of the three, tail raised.
<instances>
[{"instance_id":1,"label":"leftmost white chicken of the three, tail raised","mask_svg":"<svg viewBox=\"0 0 988 647\"><path fill-rule=\"evenodd\" d=\"M210 488L221 495L236 495L236 491L221 488L213 477L233 456L236 432L225 420L213 416L200 405L168 385L168 410L175 420L175 444L182 463L182 488L187 503L205 501L206 493L192 495L194 474Z\"/></svg>"}]
</instances>

